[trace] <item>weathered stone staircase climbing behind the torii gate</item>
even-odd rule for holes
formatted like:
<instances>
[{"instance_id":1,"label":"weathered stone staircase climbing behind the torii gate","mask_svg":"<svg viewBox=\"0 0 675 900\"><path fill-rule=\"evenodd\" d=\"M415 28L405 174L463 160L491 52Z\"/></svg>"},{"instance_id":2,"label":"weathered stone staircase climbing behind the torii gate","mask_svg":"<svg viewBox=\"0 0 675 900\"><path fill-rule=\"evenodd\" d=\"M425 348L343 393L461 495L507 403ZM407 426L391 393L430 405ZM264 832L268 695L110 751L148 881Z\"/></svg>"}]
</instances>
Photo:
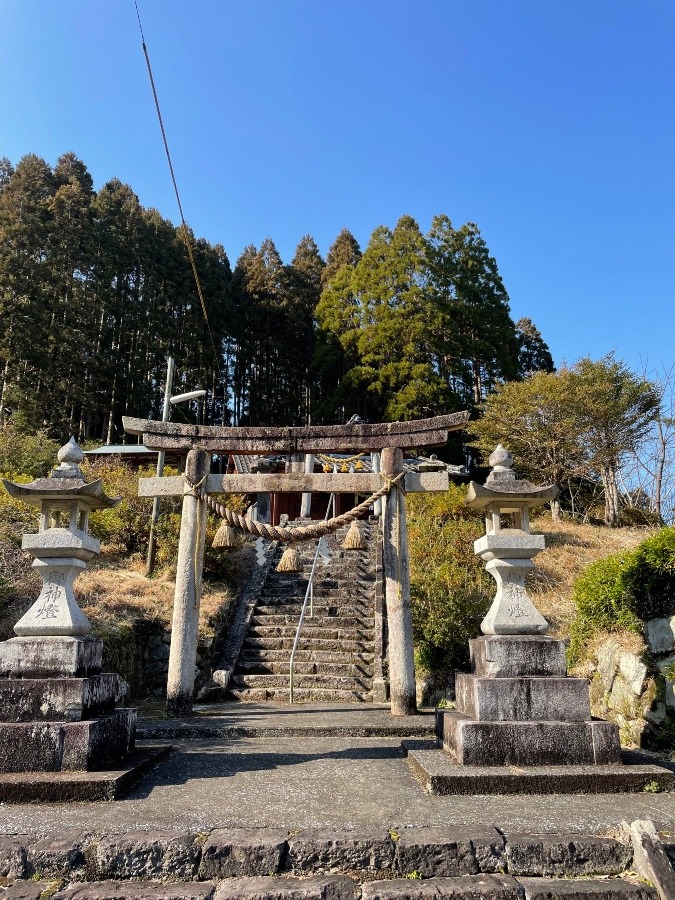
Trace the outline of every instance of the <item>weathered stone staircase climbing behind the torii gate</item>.
<instances>
[{"instance_id":1,"label":"weathered stone staircase climbing behind the torii gate","mask_svg":"<svg viewBox=\"0 0 675 900\"><path fill-rule=\"evenodd\" d=\"M299 702L368 702L377 654L377 524L362 522L365 550L343 550L347 528L326 538L331 560L317 563L313 615L305 615L295 657L294 699ZM302 573L276 572L277 548L259 593L228 699L287 701L289 662L307 590L316 542L299 546ZM381 646L381 639L380 639Z\"/></svg>"}]
</instances>

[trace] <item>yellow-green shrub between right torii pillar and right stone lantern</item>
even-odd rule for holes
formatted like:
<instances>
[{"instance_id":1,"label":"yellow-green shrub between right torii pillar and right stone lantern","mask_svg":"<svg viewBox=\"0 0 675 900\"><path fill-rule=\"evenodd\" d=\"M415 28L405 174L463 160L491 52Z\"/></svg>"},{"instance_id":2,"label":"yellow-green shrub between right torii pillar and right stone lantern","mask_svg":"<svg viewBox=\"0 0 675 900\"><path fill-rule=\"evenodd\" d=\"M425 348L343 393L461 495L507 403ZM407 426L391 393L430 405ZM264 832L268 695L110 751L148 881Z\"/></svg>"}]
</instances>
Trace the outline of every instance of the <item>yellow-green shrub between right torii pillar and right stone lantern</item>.
<instances>
[{"instance_id":1,"label":"yellow-green shrub between right torii pillar and right stone lantern","mask_svg":"<svg viewBox=\"0 0 675 900\"><path fill-rule=\"evenodd\" d=\"M415 655L420 670L451 671L468 660L468 640L479 633L495 592L473 552L483 515L464 505L465 489L408 498L410 592Z\"/></svg>"}]
</instances>

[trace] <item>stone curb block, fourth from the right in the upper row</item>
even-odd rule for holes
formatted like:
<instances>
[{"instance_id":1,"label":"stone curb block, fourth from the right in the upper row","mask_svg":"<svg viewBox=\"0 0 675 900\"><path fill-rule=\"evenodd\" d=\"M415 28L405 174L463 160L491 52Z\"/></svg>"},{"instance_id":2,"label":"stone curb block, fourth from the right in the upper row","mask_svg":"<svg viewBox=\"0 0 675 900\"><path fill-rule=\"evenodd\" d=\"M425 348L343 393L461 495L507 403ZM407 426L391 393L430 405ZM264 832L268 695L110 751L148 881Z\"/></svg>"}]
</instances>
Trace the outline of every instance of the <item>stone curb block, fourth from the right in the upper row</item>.
<instances>
[{"instance_id":1,"label":"stone curb block, fourth from the right in the upper row","mask_svg":"<svg viewBox=\"0 0 675 900\"><path fill-rule=\"evenodd\" d=\"M199 877L234 878L279 871L286 831L275 828L219 828L202 846Z\"/></svg>"}]
</instances>

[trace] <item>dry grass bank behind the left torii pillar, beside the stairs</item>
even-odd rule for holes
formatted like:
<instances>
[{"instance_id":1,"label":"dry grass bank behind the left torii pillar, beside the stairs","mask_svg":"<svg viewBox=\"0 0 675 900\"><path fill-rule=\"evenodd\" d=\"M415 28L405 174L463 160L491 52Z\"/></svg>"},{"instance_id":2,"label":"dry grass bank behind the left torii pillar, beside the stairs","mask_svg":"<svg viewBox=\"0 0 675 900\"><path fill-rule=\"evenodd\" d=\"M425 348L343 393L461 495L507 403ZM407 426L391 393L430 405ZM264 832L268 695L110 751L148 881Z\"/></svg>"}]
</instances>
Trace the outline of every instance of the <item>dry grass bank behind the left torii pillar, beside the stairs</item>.
<instances>
[{"instance_id":1,"label":"dry grass bank behind the left torii pillar, beside the stairs","mask_svg":"<svg viewBox=\"0 0 675 900\"><path fill-rule=\"evenodd\" d=\"M212 637L214 626L246 580L251 566L251 551L244 549L233 558L233 582L204 583L199 608L200 637ZM138 619L171 625L176 583L166 574L146 578L140 559L131 559L123 567L119 561L99 558L96 566L83 572L75 583L78 604L92 624L105 630L131 624Z\"/></svg>"}]
</instances>

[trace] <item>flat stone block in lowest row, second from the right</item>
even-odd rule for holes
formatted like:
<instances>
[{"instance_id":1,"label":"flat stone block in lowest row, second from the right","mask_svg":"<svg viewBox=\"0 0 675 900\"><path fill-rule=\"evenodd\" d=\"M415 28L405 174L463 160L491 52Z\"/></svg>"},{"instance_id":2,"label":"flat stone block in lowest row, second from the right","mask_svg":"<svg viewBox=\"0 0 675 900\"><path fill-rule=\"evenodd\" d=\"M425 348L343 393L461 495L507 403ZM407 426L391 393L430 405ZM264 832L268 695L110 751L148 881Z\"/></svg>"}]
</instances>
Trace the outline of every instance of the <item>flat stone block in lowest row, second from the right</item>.
<instances>
[{"instance_id":1,"label":"flat stone block in lowest row, second from the right","mask_svg":"<svg viewBox=\"0 0 675 900\"><path fill-rule=\"evenodd\" d=\"M510 875L465 875L460 878L397 878L363 885L363 900L522 900Z\"/></svg>"}]
</instances>

